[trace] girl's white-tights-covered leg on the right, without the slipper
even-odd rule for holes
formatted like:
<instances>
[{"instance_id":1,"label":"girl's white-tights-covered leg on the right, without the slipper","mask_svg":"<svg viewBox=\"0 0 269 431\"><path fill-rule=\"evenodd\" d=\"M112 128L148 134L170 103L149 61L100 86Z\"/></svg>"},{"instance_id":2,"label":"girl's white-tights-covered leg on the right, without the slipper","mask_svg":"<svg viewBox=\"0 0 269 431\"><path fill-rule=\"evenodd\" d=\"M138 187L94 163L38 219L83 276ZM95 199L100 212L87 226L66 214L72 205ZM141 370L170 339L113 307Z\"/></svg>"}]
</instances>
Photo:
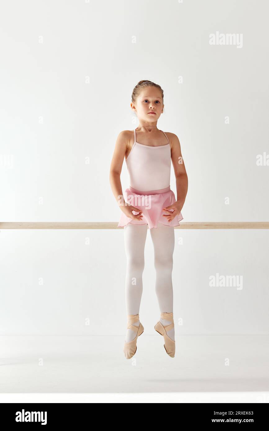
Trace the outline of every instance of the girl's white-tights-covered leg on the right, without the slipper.
<instances>
[{"instance_id":1,"label":"girl's white-tights-covered leg on the right, without the slipper","mask_svg":"<svg viewBox=\"0 0 269 431\"><path fill-rule=\"evenodd\" d=\"M158 228L150 229L154 247L154 266L156 269L155 291L159 302L160 312L173 312L173 286L172 269L173 253L175 248L175 231L173 226L158 223ZM171 321L160 319L163 325ZM175 329L172 328L167 335L175 340Z\"/></svg>"}]
</instances>

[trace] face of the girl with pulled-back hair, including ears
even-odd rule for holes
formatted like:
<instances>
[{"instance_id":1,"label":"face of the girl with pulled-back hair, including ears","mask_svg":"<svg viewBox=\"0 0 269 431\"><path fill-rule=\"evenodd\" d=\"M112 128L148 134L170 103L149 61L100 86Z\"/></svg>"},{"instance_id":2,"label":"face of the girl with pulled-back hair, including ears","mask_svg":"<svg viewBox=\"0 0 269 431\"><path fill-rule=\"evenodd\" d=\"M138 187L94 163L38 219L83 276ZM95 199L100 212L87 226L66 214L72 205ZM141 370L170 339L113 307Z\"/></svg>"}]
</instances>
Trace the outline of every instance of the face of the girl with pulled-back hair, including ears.
<instances>
[{"instance_id":1,"label":"face of the girl with pulled-back hair, including ears","mask_svg":"<svg viewBox=\"0 0 269 431\"><path fill-rule=\"evenodd\" d=\"M163 99L161 92L156 87L143 88L137 97L136 103L131 103L131 109L136 111L142 121L153 123L163 113ZM154 112L150 114L149 112Z\"/></svg>"}]
</instances>

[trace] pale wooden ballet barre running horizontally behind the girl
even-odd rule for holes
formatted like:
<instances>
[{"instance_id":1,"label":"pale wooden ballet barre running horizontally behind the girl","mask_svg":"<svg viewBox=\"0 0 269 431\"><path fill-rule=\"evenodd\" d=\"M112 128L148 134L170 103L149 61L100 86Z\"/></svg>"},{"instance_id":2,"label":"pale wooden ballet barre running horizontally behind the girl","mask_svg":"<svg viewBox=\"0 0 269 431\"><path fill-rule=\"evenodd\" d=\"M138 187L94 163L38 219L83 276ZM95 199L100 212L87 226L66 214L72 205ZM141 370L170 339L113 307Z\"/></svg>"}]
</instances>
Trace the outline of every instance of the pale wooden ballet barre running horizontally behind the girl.
<instances>
[{"instance_id":1,"label":"pale wooden ballet barre running horizontally behind the girl","mask_svg":"<svg viewBox=\"0 0 269 431\"><path fill-rule=\"evenodd\" d=\"M118 222L0 222L1 229L123 229ZM175 229L269 229L269 222L180 222Z\"/></svg>"}]
</instances>

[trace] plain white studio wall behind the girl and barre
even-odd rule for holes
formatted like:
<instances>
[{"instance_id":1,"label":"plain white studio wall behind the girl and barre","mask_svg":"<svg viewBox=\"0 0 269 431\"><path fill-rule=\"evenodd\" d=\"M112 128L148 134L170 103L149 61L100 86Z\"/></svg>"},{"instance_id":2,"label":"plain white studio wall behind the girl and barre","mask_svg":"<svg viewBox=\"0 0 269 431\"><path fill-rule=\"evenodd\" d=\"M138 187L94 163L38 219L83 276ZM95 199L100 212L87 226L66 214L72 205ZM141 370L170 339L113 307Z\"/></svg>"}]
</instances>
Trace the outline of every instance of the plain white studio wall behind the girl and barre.
<instances>
[{"instance_id":1,"label":"plain white studio wall behind the girl and barre","mask_svg":"<svg viewBox=\"0 0 269 431\"><path fill-rule=\"evenodd\" d=\"M119 132L138 125L141 79L163 88L158 127L181 142L183 222L268 221L269 166L256 163L269 156L265 1L1 3L2 222L118 221L109 167ZM211 45L218 33L242 35L241 47ZM121 180L125 190L125 161ZM125 334L123 234L1 230L0 334ZM177 333L268 334L268 236L175 230ZM145 260L140 314L153 334L149 231ZM243 288L210 287L217 273Z\"/></svg>"}]
</instances>

